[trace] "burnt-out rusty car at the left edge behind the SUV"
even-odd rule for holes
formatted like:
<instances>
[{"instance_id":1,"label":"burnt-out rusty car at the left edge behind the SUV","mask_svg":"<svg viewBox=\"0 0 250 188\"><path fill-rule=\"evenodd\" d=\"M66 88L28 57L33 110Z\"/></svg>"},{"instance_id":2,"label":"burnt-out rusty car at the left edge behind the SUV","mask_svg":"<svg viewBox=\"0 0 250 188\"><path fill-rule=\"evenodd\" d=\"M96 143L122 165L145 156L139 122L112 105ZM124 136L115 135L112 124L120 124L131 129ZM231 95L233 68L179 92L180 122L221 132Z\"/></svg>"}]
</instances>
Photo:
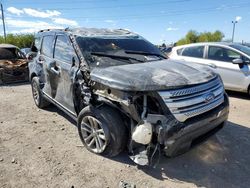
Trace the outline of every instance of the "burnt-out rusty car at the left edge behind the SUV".
<instances>
[{"instance_id":1,"label":"burnt-out rusty car at the left edge behind the SUV","mask_svg":"<svg viewBox=\"0 0 250 188\"><path fill-rule=\"evenodd\" d=\"M28 62L14 45L0 44L0 85L29 80Z\"/></svg>"}]
</instances>

